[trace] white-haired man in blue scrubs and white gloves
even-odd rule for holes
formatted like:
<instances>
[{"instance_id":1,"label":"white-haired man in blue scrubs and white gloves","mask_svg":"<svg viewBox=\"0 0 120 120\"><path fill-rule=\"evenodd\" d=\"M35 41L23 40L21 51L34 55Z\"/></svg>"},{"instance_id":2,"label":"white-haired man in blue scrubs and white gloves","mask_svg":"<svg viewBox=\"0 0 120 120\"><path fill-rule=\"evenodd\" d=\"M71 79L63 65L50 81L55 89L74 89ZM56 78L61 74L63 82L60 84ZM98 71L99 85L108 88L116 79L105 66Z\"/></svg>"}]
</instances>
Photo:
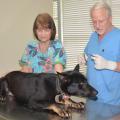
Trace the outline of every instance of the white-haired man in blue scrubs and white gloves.
<instances>
[{"instance_id":1,"label":"white-haired man in blue scrubs and white gloves","mask_svg":"<svg viewBox=\"0 0 120 120\"><path fill-rule=\"evenodd\" d=\"M96 3L90 11L95 32L80 64L87 64L88 82L98 90L99 102L120 105L120 29L112 25L108 4Z\"/></svg>"}]
</instances>

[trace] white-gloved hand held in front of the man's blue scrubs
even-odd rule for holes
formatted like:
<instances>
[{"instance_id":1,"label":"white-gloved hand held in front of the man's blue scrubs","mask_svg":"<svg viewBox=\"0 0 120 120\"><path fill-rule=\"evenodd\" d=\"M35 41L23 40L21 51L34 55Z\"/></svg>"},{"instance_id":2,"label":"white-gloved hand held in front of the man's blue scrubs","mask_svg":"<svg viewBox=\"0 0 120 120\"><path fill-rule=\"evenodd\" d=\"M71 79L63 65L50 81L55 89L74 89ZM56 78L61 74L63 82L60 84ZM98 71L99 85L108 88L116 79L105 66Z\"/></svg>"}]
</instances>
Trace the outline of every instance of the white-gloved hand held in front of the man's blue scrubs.
<instances>
[{"instance_id":1,"label":"white-gloved hand held in front of the man's blue scrubs","mask_svg":"<svg viewBox=\"0 0 120 120\"><path fill-rule=\"evenodd\" d=\"M117 63L113 61L108 61L102 56L95 54L91 57L95 62L95 68L96 69L109 69L109 70L115 70L117 67Z\"/></svg>"}]
</instances>

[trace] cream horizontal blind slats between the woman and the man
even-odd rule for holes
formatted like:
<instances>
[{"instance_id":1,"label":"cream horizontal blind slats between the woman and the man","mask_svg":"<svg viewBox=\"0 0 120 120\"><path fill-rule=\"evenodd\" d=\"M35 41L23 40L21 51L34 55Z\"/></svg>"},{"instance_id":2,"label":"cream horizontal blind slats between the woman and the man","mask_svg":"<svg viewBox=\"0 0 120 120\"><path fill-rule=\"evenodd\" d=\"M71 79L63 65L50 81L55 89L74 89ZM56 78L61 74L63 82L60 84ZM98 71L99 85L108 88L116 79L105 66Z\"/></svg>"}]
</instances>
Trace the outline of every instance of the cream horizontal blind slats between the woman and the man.
<instances>
[{"instance_id":1,"label":"cream horizontal blind slats between the woman and the man","mask_svg":"<svg viewBox=\"0 0 120 120\"><path fill-rule=\"evenodd\" d=\"M63 44L67 53L66 70L79 63L92 31L89 8L92 0L62 0ZM86 66L80 66L85 73Z\"/></svg>"}]
</instances>

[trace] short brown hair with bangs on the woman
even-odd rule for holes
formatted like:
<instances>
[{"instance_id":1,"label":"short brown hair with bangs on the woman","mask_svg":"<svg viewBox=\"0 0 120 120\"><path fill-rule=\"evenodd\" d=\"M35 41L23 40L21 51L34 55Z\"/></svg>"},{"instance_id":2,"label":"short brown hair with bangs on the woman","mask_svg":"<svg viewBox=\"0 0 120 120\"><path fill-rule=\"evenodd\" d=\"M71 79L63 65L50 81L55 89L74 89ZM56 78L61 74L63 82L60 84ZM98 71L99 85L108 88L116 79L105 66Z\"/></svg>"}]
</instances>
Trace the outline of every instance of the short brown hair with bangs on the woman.
<instances>
[{"instance_id":1,"label":"short brown hair with bangs on the woman","mask_svg":"<svg viewBox=\"0 0 120 120\"><path fill-rule=\"evenodd\" d=\"M35 21L34 21L34 24L33 24L33 34L34 34L36 39L38 39L36 30L39 28L39 26L42 26L43 28L51 29L51 38L50 38L50 40L54 40L55 39L56 26L55 26L53 18L48 13L39 14L36 17Z\"/></svg>"}]
</instances>

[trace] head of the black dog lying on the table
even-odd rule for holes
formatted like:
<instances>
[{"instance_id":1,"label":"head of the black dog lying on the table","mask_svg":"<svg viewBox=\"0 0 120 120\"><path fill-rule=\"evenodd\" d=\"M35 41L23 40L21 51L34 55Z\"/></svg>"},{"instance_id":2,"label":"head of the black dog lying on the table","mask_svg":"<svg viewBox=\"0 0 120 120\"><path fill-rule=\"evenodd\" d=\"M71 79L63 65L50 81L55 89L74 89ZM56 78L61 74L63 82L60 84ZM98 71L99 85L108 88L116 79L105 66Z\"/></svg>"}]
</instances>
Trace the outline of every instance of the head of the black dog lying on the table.
<instances>
[{"instance_id":1,"label":"head of the black dog lying on the table","mask_svg":"<svg viewBox=\"0 0 120 120\"><path fill-rule=\"evenodd\" d=\"M79 72L79 64L73 71L58 73L61 83L61 89L68 95L88 97L96 100L97 90L88 82L86 77Z\"/></svg>"}]
</instances>

